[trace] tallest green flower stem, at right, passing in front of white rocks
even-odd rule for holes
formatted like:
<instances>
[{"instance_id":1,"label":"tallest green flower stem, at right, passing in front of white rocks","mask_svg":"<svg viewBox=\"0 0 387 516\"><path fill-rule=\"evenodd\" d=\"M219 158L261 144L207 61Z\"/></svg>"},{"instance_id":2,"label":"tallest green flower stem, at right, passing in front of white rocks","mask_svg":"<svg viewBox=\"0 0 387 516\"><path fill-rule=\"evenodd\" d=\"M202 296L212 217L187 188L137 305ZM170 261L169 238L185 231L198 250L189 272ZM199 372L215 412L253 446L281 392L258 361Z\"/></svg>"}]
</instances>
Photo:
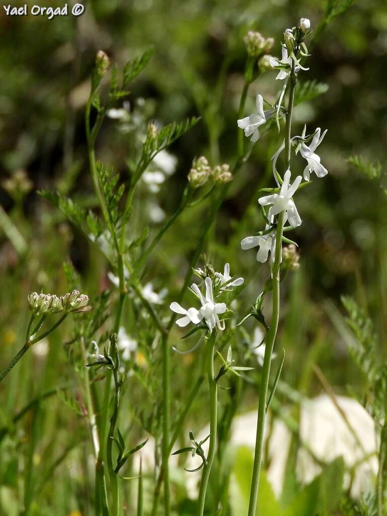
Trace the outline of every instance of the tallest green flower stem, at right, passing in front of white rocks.
<instances>
[{"instance_id":1,"label":"tallest green flower stem, at right, passing in front of white rocks","mask_svg":"<svg viewBox=\"0 0 387 516\"><path fill-rule=\"evenodd\" d=\"M292 61L292 69L289 76L289 101L286 115L285 125L285 170L290 167L291 160L291 131L292 131L292 113L293 113L293 102L294 92L296 86L296 74L295 65ZM270 364L271 355L273 352L274 343L276 340L278 321L280 315L280 264L281 264L281 252L282 252L282 235L284 225L284 212L281 212L278 216L277 231L276 231L276 252L275 261L272 271L272 318L270 329L266 337L266 349L265 357L262 368L262 379L260 386L260 399L258 405L258 416L257 416L257 429L256 429L256 440L255 440L255 452L254 452L254 465L251 479L251 490L250 490L250 501L248 516L255 516L256 505L258 499L258 490L260 483L260 473L262 464L262 449L263 449L263 432L265 428L266 418L266 401L267 401L267 390L269 385L270 376Z\"/></svg>"}]
</instances>

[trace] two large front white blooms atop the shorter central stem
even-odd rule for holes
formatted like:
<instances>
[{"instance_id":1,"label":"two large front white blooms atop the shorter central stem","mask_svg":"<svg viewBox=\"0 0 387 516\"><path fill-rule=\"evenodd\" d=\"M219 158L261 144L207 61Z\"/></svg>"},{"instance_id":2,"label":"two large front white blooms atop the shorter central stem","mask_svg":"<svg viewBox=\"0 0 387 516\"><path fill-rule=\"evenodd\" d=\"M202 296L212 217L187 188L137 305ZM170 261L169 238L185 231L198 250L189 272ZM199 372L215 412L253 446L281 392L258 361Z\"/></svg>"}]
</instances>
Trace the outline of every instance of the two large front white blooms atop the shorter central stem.
<instances>
[{"instance_id":1,"label":"two large front white blooms atop the shorter central stem","mask_svg":"<svg viewBox=\"0 0 387 516\"><path fill-rule=\"evenodd\" d=\"M175 301L170 304L169 308L176 314L184 315L184 317L176 320L176 324L180 327L187 326L189 322L193 322L193 324L199 324L200 321L205 319L209 331L212 331L215 326L217 326L219 330L224 330L224 321L219 320L219 314L224 314L224 312L227 310L227 307L225 303L216 303L214 301L212 279L207 277L204 280L204 283L205 296L203 296L203 294L200 292L200 288L196 283L192 283L191 285L192 292L197 295L202 305L199 310L196 308L189 308L186 310Z\"/></svg>"}]
</instances>

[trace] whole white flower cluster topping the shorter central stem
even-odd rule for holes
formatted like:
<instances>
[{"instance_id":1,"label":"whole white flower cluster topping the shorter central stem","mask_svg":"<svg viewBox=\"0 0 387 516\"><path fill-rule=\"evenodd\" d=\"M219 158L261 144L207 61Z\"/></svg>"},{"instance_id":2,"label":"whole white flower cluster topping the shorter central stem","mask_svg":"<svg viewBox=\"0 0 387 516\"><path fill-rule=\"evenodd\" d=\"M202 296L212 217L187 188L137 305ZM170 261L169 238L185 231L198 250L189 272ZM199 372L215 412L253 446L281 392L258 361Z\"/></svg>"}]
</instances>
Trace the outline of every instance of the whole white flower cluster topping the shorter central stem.
<instances>
[{"instance_id":1,"label":"whole white flower cluster topping the shorter central stem","mask_svg":"<svg viewBox=\"0 0 387 516\"><path fill-rule=\"evenodd\" d=\"M196 283L192 283L191 291L196 295L201 303L201 308L199 310L194 307L186 310L175 301L170 304L169 308L172 312L184 315L184 317L176 320L176 324L178 326L185 327L190 322L193 322L193 324L199 324L203 319L205 319L209 331L212 331L215 327L219 330L224 330L224 320L220 320L219 315L224 314L227 311L227 306L225 303L217 303L214 300L214 287L217 288L218 296L220 296L224 291L231 287L241 285L244 282L244 279L233 279L233 277L230 276L230 265L228 263L224 265L223 273L215 272L215 278L214 283L209 276L204 279L205 295L202 294Z\"/></svg>"}]
</instances>

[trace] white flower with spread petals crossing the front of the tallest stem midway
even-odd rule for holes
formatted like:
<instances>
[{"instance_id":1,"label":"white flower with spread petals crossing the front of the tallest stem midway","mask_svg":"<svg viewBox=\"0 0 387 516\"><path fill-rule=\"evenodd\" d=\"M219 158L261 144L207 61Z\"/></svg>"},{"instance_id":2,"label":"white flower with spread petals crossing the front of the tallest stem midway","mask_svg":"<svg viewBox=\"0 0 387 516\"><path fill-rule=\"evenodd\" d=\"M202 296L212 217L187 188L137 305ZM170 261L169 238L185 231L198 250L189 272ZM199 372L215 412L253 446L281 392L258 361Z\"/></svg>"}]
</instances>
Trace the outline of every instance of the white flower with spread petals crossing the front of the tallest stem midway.
<instances>
[{"instance_id":1,"label":"white flower with spread petals crossing the front of the tallest stem midway","mask_svg":"<svg viewBox=\"0 0 387 516\"><path fill-rule=\"evenodd\" d=\"M286 170L280 193L273 193L272 195L261 197L258 202L261 206L271 205L271 215L278 215L281 212L285 212L285 222L288 219L292 226L297 227L301 225L301 217L298 214L292 197L299 187L302 178L298 175L293 185L289 183L290 179L291 171Z\"/></svg>"}]
</instances>

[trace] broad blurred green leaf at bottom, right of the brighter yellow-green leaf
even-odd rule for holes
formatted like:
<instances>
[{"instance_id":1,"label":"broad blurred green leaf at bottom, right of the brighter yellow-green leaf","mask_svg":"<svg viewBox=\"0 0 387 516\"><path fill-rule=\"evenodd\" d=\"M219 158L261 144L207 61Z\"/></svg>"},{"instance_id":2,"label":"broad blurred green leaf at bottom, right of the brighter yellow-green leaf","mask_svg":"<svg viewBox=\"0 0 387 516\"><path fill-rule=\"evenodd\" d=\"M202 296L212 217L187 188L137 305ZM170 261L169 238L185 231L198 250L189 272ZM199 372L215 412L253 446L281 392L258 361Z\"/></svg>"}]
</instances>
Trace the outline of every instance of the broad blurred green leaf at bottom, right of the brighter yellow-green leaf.
<instances>
[{"instance_id":1,"label":"broad blurred green leaf at bottom, right of the brighter yellow-green leaf","mask_svg":"<svg viewBox=\"0 0 387 516\"><path fill-rule=\"evenodd\" d=\"M344 462L340 457L293 499L282 516L330 516L337 510L343 489Z\"/></svg>"}]
</instances>

